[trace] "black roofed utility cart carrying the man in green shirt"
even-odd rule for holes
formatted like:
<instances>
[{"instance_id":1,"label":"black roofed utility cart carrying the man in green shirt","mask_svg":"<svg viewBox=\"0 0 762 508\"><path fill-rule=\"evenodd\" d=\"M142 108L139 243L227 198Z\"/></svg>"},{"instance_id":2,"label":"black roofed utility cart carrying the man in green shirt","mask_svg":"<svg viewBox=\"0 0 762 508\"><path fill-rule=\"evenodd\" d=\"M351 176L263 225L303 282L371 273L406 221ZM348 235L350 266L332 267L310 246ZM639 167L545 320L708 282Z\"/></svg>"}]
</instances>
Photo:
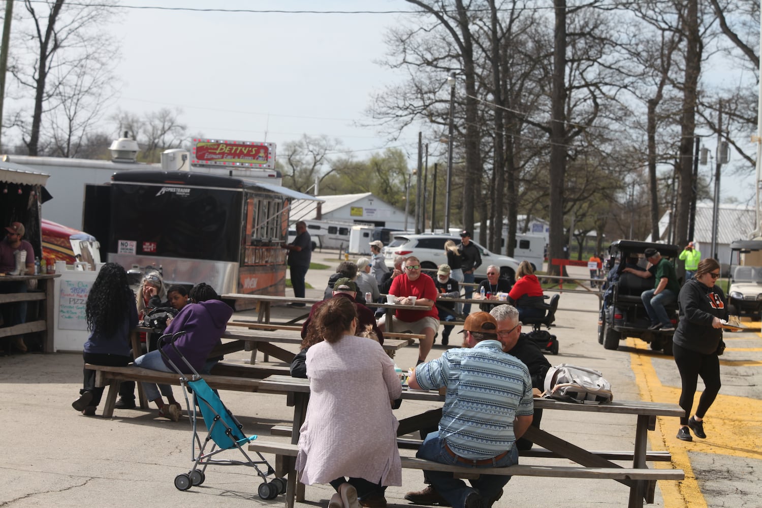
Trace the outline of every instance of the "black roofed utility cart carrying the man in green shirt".
<instances>
[{"instance_id":1,"label":"black roofed utility cart carrying the man in green shirt","mask_svg":"<svg viewBox=\"0 0 762 508\"><path fill-rule=\"evenodd\" d=\"M598 342L607 350L616 350L620 340L637 337L650 343L652 350L663 350L665 354L671 355L674 332L648 330L651 320L640 298L642 292L654 289L655 280L653 277L643 279L634 273L622 271L628 257L638 257L638 266L645 268L647 261L644 252L647 248L655 248L673 265L681 251L677 245L646 241L617 240L610 245L607 257L610 273L605 286L604 308L598 319ZM668 305L667 312L672 323L677 325L677 302Z\"/></svg>"}]
</instances>

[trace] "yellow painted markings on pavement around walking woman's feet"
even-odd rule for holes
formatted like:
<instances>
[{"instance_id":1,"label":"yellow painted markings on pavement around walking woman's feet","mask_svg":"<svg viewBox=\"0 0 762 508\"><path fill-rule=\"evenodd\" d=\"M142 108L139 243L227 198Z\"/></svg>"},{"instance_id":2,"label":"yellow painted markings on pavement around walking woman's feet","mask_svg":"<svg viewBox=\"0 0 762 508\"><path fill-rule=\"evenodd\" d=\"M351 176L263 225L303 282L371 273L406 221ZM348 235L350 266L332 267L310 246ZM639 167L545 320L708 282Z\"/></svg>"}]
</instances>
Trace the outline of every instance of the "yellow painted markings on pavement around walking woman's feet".
<instances>
[{"instance_id":1,"label":"yellow painted markings on pavement around walking woman's feet","mask_svg":"<svg viewBox=\"0 0 762 508\"><path fill-rule=\"evenodd\" d=\"M640 340L628 338L627 346L644 346ZM652 357L664 358L674 363L668 356L661 356L650 350L639 349L630 353L632 372L635 374L640 396L644 401L677 403L680 399L680 387L664 386L658 379ZM725 364L725 362L721 362ZM728 361L728 365L739 366L744 363ZM762 365L762 362L750 362L750 365ZM675 367L677 370L677 367ZM721 372L722 375L722 372ZM693 400L695 409L700 392ZM694 438L692 443L677 439L680 423L676 418L658 417L655 432L651 433L652 446L668 449L672 455L672 465L685 471L685 480L680 482L659 481L665 508L706 508L706 500L700 490L701 478L696 478L690 465L688 452L703 452L735 457L762 459L762 401L723 395L720 388L714 404L706 414L704 430L707 439ZM671 467L670 464L658 464L656 467Z\"/></svg>"}]
</instances>

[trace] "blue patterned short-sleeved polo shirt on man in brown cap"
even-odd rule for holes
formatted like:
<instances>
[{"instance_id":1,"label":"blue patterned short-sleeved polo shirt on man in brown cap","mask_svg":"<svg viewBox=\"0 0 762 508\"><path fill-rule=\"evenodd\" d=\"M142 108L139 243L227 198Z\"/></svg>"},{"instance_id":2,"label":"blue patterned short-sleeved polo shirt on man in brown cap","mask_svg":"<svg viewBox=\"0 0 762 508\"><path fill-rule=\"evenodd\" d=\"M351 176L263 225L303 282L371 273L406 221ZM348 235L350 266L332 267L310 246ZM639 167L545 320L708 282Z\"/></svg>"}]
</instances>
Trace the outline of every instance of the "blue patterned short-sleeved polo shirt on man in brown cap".
<instances>
[{"instance_id":1,"label":"blue patterned short-sleeved polo shirt on man in brown cap","mask_svg":"<svg viewBox=\"0 0 762 508\"><path fill-rule=\"evenodd\" d=\"M488 458L514 446L514 419L534 413L527 366L498 340L447 350L415 369L421 388L447 387L439 435L463 458Z\"/></svg>"}]
</instances>

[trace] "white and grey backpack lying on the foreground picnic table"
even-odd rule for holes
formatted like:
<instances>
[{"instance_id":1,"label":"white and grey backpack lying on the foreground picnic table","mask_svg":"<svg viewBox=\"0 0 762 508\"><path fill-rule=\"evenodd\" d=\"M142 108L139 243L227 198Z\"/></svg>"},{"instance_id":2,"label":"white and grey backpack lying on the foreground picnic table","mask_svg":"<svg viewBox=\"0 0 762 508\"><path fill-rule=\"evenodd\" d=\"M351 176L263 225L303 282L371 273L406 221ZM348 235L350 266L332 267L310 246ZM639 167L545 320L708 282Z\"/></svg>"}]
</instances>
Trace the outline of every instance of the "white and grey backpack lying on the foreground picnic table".
<instances>
[{"instance_id":1,"label":"white and grey backpack lying on the foreground picnic table","mask_svg":"<svg viewBox=\"0 0 762 508\"><path fill-rule=\"evenodd\" d=\"M604 403L613 400L611 383L593 369L562 363L548 369L545 375L546 398L569 402Z\"/></svg>"}]
</instances>

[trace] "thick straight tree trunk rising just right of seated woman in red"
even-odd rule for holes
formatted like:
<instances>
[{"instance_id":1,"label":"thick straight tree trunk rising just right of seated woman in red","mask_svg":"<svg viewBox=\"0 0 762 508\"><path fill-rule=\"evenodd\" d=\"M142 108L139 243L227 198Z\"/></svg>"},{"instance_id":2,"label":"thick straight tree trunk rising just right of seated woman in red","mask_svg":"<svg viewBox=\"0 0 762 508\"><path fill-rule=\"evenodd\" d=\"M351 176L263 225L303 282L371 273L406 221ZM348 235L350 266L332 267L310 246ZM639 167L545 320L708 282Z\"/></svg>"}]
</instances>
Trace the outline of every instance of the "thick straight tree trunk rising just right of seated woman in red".
<instances>
[{"instance_id":1,"label":"thick straight tree trunk rising just right of seated woman in red","mask_svg":"<svg viewBox=\"0 0 762 508\"><path fill-rule=\"evenodd\" d=\"M551 92L550 120L550 242L549 259L564 257L564 177L566 173L566 0L553 0L555 10L555 28L553 33L553 75ZM562 273L565 270L549 264L549 273Z\"/></svg>"}]
</instances>

